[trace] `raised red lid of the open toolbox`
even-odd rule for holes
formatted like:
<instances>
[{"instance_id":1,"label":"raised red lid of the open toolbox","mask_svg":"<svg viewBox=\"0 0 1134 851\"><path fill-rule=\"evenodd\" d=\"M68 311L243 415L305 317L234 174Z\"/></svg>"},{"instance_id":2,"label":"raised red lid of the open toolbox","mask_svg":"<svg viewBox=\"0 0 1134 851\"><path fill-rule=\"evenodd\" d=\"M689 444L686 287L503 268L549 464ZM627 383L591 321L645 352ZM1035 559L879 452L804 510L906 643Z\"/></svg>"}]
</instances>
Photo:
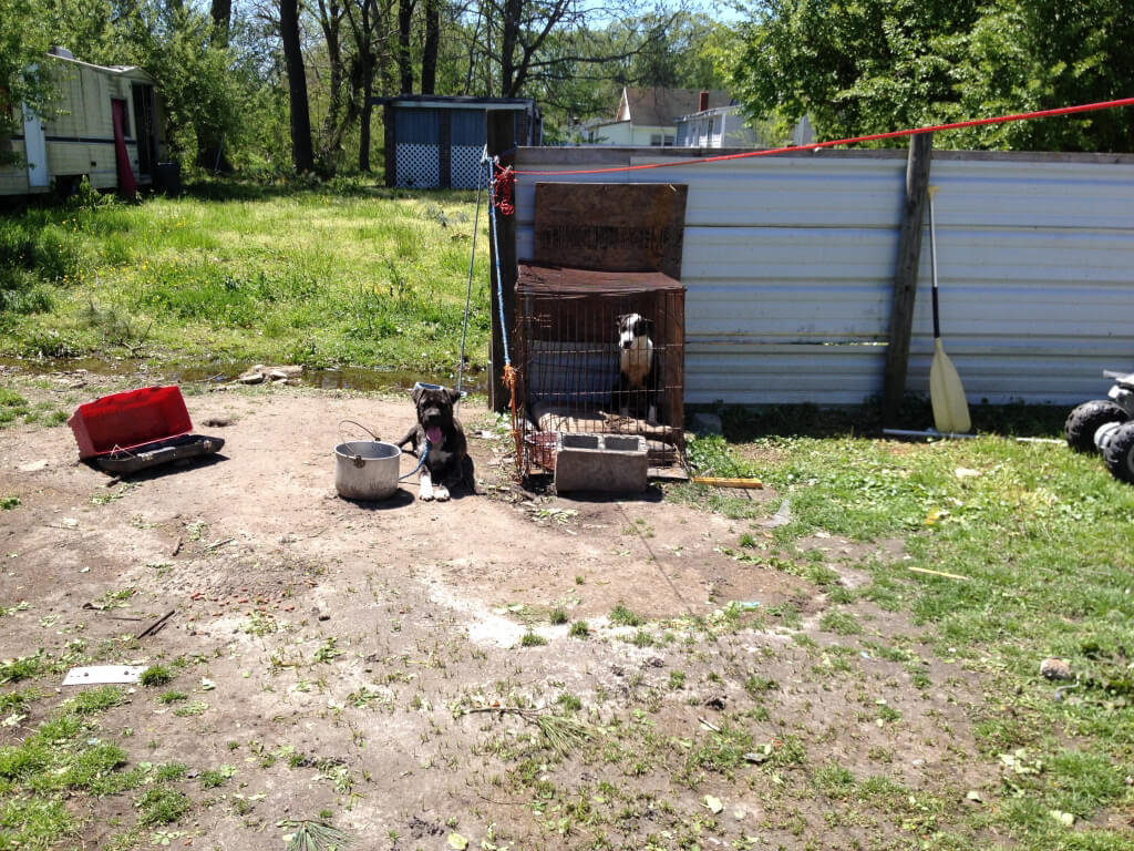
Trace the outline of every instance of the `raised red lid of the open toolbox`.
<instances>
[{"instance_id":1,"label":"raised red lid of the open toolbox","mask_svg":"<svg viewBox=\"0 0 1134 851\"><path fill-rule=\"evenodd\" d=\"M177 385L143 387L79 405L67 421L78 441L78 456L92 458L134 449L193 431Z\"/></svg>"}]
</instances>

